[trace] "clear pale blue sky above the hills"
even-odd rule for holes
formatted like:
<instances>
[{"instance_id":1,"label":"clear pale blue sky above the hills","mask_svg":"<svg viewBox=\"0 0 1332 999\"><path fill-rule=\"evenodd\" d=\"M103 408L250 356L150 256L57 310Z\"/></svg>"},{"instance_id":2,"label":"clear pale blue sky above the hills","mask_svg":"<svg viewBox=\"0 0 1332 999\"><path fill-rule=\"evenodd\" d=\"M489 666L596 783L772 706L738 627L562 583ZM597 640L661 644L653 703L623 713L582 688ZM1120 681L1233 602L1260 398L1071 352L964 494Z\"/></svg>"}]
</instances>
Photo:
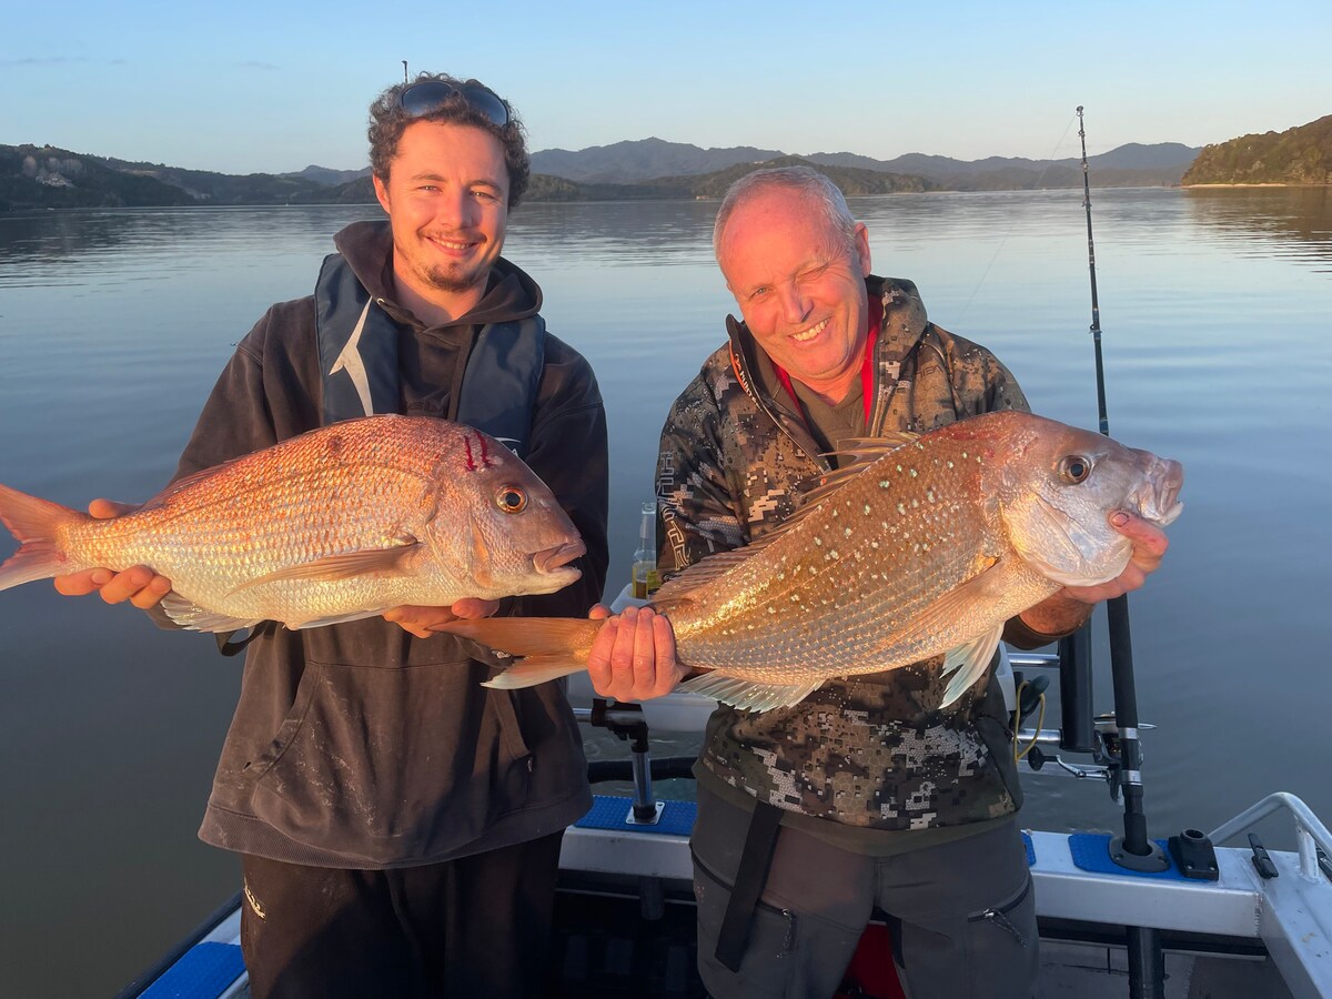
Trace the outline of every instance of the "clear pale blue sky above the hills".
<instances>
[{"instance_id":1,"label":"clear pale blue sky above the hills","mask_svg":"<svg viewBox=\"0 0 1332 999\"><path fill-rule=\"evenodd\" d=\"M489 84L533 149L1040 159L1078 155L1079 104L1094 155L1332 113L1328 0L29 0L0 23L0 143L225 173L364 166L402 60Z\"/></svg>"}]
</instances>

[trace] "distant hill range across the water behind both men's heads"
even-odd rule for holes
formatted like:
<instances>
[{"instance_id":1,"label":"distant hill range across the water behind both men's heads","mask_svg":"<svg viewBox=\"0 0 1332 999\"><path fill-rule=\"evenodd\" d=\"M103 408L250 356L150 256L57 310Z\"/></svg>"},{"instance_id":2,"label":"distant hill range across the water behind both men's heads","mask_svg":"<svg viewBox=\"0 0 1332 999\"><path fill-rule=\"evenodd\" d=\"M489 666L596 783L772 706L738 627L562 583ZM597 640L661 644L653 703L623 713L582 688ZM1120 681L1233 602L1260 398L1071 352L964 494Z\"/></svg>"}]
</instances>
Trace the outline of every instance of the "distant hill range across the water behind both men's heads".
<instances>
[{"instance_id":1,"label":"distant hill range across the water behind both men's heads","mask_svg":"<svg viewBox=\"0 0 1332 999\"><path fill-rule=\"evenodd\" d=\"M1196 152L1179 143L1124 145L1091 157L1092 182L1096 186L1176 184ZM1329 160L1332 157L1325 156L1321 163ZM815 166L832 177L847 194L1082 185L1078 160L988 157L963 161L920 153L875 160L848 152L795 157L774 149L702 149L661 139L615 143L578 152L545 149L533 153L531 161L529 201L721 197L735 177L751 169L794 163ZM0 145L0 212L373 201L369 169L336 170L310 165L296 173L237 176L91 156L53 147Z\"/></svg>"}]
</instances>

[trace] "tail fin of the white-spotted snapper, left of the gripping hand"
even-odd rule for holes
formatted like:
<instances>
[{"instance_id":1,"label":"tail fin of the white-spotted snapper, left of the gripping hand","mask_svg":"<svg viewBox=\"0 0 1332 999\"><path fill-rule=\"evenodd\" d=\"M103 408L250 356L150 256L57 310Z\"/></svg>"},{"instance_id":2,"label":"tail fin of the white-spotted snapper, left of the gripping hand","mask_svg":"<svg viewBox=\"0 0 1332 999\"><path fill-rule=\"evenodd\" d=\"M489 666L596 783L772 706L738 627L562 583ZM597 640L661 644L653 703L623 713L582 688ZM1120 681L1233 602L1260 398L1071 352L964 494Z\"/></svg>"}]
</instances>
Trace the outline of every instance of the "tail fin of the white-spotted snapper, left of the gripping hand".
<instances>
[{"instance_id":1,"label":"tail fin of the white-spotted snapper, left of the gripping hand","mask_svg":"<svg viewBox=\"0 0 1332 999\"><path fill-rule=\"evenodd\" d=\"M498 653L523 657L485 683L513 690L587 669L587 655L601 625L601 621L578 618L482 618L452 621L440 630L470 638Z\"/></svg>"}]
</instances>

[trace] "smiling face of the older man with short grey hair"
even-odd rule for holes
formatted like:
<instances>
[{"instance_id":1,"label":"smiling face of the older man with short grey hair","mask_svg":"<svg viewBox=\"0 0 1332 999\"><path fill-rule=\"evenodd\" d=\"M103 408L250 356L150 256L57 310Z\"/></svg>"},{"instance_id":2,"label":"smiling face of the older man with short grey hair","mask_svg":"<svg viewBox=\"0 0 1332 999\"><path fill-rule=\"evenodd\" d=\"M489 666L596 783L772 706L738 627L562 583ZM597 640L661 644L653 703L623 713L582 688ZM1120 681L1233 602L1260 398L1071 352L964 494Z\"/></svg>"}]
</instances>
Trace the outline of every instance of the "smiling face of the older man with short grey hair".
<instances>
[{"instance_id":1,"label":"smiling face of the older man with short grey hair","mask_svg":"<svg viewBox=\"0 0 1332 999\"><path fill-rule=\"evenodd\" d=\"M767 356L826 401L846 398L867 334L864 225L848 246L811 196L771 188L735 208L718 250L726 286Z\"/></svg>"}]
</instances>

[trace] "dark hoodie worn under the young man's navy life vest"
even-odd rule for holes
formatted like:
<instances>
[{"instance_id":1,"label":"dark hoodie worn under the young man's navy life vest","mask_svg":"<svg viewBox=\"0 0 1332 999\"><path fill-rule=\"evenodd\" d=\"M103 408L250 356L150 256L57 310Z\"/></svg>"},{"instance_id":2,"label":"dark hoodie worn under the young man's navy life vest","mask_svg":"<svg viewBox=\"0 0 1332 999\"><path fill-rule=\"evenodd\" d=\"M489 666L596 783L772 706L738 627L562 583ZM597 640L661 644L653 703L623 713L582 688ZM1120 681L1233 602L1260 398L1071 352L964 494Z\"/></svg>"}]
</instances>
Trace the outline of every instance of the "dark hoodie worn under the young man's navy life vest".
<instances>
[{"instance_id":1,"label":"dark hoodie worn under the young man's navy life vest","mask_svg":"<svg viewBox=\"0 0 1332 999\"><path fill-rule=\"evenodd\" d=\"M453 418L478 328L533 316L541 289L500 258L469 314L426 328L393 298L386 222L338 250L398 324L400 412ZM272 306L237 345L176 477L320 425L313 296ZM582 578L501 613L583 617L606 578L606 416L587 362L546 337L527 465L581 531ZM240 702L200 836L289 863L385 868L448 860L555 832L591 805L563 685L490 690L477 650L368 618L249 645Z\"/></svg>"}]
</instances>

